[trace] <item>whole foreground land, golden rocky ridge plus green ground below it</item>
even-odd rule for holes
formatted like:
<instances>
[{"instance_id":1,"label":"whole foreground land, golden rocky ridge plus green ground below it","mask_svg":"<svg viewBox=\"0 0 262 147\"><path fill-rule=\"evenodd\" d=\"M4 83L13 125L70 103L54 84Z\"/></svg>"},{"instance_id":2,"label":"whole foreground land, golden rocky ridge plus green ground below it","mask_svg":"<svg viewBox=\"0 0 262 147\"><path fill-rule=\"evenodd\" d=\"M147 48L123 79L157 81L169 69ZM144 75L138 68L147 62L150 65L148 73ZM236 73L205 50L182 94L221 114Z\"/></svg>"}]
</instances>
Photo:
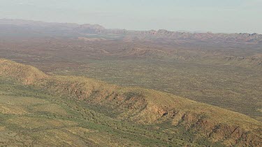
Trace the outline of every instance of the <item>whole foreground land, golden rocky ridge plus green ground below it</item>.
<instances>
[{"instance_id":1,"label":"whole foreground land, golden rocky ridge plus green ground below it","mask_svg":"<svg viewBox=\"0 0 262 147\"><path fill-rule=\"evenodd\" d=\"M6 59L0 71L1 135L8 134L2 145L143 146L152 138L161 146L261 146L261 122L233 111L145 88L46 75ZM100 125L114 133L96 130ZM95 138L103 134L110 138ZM145 140L134 143L137 137Z\"/></svg>"}]
</instances>

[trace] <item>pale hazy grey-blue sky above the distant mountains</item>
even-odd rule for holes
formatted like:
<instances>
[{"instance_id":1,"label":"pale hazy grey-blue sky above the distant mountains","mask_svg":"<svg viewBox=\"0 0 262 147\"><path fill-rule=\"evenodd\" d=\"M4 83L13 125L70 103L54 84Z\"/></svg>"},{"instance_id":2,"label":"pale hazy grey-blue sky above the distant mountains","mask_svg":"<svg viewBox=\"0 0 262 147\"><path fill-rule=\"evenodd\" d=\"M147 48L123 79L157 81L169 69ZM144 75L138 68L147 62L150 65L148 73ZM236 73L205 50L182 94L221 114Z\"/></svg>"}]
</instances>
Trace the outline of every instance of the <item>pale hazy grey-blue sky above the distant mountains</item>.
<instances>
[{"instance_id":1,"label":"pale hazy grey-blue sky above the distant mountains","mask_svg":"<svg viewBox=\"0 0 262 147\"><path fill-rule=\"evenodd\" d=\"M0 18L108 29L262 33L262 0L0 0Z\"/></svg>"}]
</instances>

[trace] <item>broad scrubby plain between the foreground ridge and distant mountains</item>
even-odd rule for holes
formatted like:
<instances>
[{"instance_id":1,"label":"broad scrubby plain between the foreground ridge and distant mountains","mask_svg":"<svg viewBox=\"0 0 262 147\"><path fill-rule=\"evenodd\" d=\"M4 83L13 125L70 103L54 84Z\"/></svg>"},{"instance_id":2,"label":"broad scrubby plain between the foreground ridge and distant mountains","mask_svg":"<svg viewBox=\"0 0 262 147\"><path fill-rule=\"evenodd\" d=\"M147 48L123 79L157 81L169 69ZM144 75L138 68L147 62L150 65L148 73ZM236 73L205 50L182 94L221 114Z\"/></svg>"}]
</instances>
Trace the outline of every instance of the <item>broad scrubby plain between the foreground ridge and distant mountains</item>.
<instances>
[{"instance_id":1,"label":"broad scrubby plain between the foreground ridge and distant mountains","mask_svg":"<svg viewBox=\"0 0 262 147\"><path fill-rule=\"evenodd\" d=\"M58 75L142 86L261 120L262 46L2 37L1 57Z\"/></svg>"}]
</instances>

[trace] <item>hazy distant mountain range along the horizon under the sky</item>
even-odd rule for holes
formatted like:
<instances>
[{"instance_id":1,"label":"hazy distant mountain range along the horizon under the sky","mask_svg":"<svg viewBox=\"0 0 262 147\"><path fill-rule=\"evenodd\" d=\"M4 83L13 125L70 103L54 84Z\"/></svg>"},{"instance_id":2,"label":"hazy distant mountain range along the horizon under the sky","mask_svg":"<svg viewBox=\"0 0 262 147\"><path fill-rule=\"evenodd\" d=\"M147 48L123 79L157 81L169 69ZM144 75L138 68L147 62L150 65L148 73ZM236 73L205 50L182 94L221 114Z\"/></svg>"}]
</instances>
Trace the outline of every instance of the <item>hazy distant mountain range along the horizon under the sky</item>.
<instances>
[{"instance_id":1,"label":"hazy distant mountain range along the horizon under the sky","mask_svg":"<svg viewBox=\"0 0 262 147\"><path fill-rule=\"evenodd\" d=\"M29 20L0 20L0 34L10 31L52 34L58 36L114 36L115 39L127 40L193 40L205 42L245 42L261 43L262 35L258 33L190 33L181 31L129 31L125 29L105 29L99 24L73 24L73 23L54 23L38 22Z\"/></svg>"}]
</instances>

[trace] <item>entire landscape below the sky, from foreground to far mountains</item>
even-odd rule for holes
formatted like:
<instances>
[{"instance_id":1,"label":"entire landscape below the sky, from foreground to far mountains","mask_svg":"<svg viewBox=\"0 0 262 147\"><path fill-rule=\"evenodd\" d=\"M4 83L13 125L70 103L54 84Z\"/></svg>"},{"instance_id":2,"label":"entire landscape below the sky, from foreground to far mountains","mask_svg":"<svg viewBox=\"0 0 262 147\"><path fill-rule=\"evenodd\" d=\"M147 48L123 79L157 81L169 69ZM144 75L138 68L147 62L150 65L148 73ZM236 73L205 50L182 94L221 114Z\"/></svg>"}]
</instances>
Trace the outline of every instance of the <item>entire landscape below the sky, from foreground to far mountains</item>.
<instances>
[{"instance_id":1,"label":"entire landscape below the sky, from foreground to far mountains","mask_svg":"<svg viewBox=\"0 0 262 147\"><path fill-rule=\"evenodd\" d=\"M261 146L261 40L0 20L0 146Z\"/></svg>"}]
</instances>

